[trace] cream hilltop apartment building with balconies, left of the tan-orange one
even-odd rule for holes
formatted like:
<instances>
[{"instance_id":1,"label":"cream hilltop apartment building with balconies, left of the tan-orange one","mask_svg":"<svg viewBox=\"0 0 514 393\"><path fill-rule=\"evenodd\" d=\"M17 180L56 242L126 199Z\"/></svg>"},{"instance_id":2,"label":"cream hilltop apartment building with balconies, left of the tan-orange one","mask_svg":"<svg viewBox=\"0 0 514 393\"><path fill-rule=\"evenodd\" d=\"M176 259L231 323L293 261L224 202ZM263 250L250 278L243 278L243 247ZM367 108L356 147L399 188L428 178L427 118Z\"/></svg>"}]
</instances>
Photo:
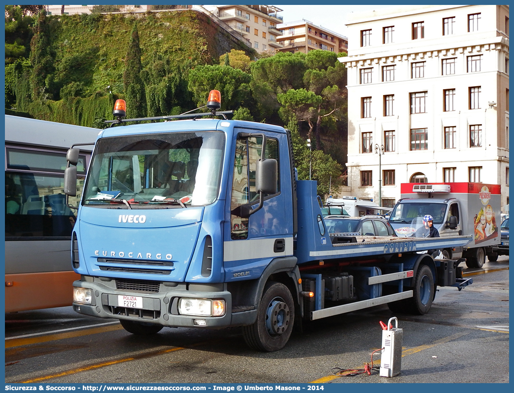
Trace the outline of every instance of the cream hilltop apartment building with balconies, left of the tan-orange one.
<instances>
[{"instance_id":1,"label":"cream hilltop apartment building with balconies, left of the tan-orange one","mask_svg":"<svg viewBox=\"0 0 514 393\"><path fill-rule=\"evenodd\" d=\"M275 53L282 48L278 37L282 32L277 25L282 23L278 15L280 8L274 6L203 6L232 29L241 33L249 46L258 52Z\"/></svg>"}]
</instances>

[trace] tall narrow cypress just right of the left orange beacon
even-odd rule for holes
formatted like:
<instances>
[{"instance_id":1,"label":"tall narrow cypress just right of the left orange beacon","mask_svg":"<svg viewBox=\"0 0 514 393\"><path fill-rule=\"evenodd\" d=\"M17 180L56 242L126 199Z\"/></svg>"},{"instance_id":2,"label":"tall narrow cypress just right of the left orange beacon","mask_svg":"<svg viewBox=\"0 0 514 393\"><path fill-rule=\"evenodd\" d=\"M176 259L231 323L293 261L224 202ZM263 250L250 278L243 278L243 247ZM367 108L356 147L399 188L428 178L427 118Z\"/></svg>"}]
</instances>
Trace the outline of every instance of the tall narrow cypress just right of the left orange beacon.
<instances>
[{"instance_id":1,"label":"tall narrow cypress just right of the left orange beacon","mask_svg":"<svg viewBox=\"0 0 514 393\"><path fill-rule=\"evenodd\" d=\"M139 47L139 33L137 24L134 23L130 42L128 43L125 57L125 72L123 74L123 86L127 103L127 118L139 118L146 116L146 95L144 84L141 80L141 48Z\"/></svg>"}]
</instances>

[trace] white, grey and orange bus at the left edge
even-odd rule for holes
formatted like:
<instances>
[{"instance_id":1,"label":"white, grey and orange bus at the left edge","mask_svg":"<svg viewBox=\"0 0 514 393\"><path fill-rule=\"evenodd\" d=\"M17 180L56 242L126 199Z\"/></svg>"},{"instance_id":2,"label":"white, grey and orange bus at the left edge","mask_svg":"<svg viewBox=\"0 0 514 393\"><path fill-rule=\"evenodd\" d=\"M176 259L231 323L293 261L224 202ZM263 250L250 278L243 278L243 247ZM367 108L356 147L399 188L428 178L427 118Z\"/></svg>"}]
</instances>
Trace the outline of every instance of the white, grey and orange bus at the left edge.
<instances>
[{"instance_id":1,"label":"white, grey and orange bus at the left edge","mask_svg":"<svg viewBox=\"0 0 514 393\"><path fill-rule=\"evenodd\" d=\"M71 230L76 210L63 192L66 151L81 153L78 206L100 130L5 115L5 312L70 306Z\"/></svg>"}]
</instances>

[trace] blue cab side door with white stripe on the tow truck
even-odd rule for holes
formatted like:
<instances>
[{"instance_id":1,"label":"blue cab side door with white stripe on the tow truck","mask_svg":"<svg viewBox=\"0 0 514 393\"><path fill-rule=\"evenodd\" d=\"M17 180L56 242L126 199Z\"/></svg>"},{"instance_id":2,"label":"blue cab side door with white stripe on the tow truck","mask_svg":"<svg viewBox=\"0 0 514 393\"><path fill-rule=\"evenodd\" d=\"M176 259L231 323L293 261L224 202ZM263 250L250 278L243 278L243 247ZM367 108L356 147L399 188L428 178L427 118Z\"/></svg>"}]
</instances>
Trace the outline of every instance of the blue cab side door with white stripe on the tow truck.
<instances>
[{"instance_id":1,"label":"blue cab side door with white stripe on the tow truck","mask_svg":"<svg viewBox=\"0 0 514 393\"><path fill-rule=\"evenodd\" d=\"M248 130L242 132L247 133ZM233 150L232 184L231 189L227 190L226 201L226 211L229 214L226 215L224 228L226 281L259 277L273 258L292 255L292 218L289 220L286 217L286 210L291 208L286 207L288 193L283 192L285 179L280 170L281 167L289 167L289 160L281 160L281 152L287 152L285 135L264 134L264 158L273 158L278 162L277 192L264 194L263 207L249 217L245 215L248 207L255 209L259 204L259 193L255 189L255 170L262 155L263 138L237 137Z\"/></svg>"}]
</instances>

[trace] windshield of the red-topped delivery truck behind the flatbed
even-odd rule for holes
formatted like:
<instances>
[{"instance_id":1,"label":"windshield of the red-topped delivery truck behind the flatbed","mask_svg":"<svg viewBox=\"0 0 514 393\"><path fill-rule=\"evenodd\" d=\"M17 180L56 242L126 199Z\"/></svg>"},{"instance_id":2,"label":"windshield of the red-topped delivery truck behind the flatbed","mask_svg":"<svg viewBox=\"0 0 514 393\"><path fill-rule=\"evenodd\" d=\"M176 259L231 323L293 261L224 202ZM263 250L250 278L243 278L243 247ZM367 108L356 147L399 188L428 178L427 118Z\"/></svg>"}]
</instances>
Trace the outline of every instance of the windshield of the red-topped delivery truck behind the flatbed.
<instances>
[{"instance_id":1,"label":"windshield of the red-topped delivery truck behind the flatbed","mask_svg":"<svg viewBox=\"0 0 514 393\"><path fill-rule=\"evenodd\" d=\"M430 215L434 218L434 224L442 224L446 221L446 207L444 203L398 203L393 211L389 222L391 224L412 224L421 223L423 216Z\"/></svg>"}]
</instances>

